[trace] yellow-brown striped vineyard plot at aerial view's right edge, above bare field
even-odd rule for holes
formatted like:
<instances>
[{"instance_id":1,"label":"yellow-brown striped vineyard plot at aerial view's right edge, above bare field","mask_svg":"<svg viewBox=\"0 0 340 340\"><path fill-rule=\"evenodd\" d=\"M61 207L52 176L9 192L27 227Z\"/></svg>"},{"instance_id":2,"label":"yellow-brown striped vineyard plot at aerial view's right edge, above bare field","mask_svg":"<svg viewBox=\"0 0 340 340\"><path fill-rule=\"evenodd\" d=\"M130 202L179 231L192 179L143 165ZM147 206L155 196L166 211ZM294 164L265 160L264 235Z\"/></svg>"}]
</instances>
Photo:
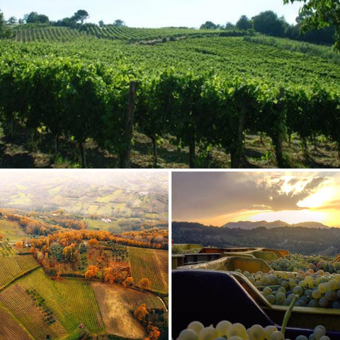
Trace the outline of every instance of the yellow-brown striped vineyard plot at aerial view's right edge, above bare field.
<instances>
[{"instance_id":1,"label":"yellow-brown striped vineyard plot at aerial view's right edge, above bare field","mask_svg":"<svg viewBox=\"0 0 340 340\"><path fill-rule=\"evenodd\" d=\"M148 278L151 289L166 293L169 289L168 251L129 246L132 278L135 283Z\"/></svg>"}]
</instances>

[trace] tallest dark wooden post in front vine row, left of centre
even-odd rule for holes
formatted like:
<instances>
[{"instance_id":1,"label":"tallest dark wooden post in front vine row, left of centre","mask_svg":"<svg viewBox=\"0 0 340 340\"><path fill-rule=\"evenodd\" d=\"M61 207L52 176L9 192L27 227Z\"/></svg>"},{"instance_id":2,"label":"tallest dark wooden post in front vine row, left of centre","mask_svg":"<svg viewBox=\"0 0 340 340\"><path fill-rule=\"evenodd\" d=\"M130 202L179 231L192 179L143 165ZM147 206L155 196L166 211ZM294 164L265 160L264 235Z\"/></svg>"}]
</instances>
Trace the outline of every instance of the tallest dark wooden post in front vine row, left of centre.
<instances>
[{"instance_id":1,"label":"tallest dark wooden post in front vine row, left of centre","mask_svg":"<svg viewBox=\"0 0 340 340\"><path fill-rule=\"evenodd\" d=\"M129 96L128 96L128 110L125 112L125 132L123 149L120 152L120 168L130 168L130 154L131 154L131 139L132 127L135 111L135 97L137 91L137 83L130 81Z\"/></svg>"}]
</instances>

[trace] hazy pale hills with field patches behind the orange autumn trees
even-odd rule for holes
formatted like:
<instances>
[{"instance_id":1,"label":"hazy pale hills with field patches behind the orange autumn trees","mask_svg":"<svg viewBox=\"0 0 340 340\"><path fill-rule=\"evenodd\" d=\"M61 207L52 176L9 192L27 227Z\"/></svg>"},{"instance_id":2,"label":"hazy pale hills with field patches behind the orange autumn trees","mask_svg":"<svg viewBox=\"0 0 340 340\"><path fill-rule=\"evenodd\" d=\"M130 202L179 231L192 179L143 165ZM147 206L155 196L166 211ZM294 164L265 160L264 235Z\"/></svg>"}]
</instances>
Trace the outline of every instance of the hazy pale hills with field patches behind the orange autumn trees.
<instances>
[{"instance_id":1,"label":"hazy pale hills with field patches behind the orange autumn trees","mask_svg":"<svg viewBox=\"0 0 340 340\"><path fill-rule=\"evenodd\" d=\"M36 182L37 176L39 183ZM4 174L0 183L3 208L52 211L63 209L78 215L98 215L145 220L166 220L167 174L128 173Z\"/></svg>"}]
</instances>

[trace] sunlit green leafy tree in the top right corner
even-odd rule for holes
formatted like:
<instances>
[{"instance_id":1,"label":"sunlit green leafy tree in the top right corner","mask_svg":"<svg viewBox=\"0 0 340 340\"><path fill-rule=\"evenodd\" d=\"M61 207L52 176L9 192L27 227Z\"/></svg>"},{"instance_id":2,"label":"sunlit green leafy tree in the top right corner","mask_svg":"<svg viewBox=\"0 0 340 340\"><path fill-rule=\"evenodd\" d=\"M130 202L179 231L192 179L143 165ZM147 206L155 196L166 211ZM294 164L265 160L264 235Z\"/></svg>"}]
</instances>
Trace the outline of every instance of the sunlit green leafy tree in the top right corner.
<instances>
[{"instance_id":1,"label":"sunlit green leafy tree in the top right corner","mask_svg":"<svg viewBox=\"0 0 340 340\"><path fill-rule=\"evenodd\" d=\"M340 52L340 1L339 0L283 0L284 4L303 1L300 8L302 30L334 26L334 49Z\"/></svg>"}]
</instances>

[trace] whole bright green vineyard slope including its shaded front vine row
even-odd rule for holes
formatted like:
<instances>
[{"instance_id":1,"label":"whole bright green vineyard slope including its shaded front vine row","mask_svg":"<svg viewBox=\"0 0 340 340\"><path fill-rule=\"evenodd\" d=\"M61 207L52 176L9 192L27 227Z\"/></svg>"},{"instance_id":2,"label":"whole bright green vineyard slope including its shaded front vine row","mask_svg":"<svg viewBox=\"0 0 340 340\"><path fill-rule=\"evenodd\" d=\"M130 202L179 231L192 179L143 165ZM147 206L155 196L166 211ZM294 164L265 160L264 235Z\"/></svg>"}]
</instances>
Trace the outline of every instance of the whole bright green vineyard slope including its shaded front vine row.
<instances>
[{"instance_id":1,"label":"whole bright green vineyard slope including its shaded front vine row","mask_svg":"<svg viewBox=\"0 0 340 340\"><path fill-rule=\"evenodd\" d=\"M280 167L287 135L305 149L321 135L340 149L339 64L242 36L193 37L156 45L80 33L68 42L1 41L5 134L21 125L35 140L55 140L56 150L66 137L82 154L91 138L128 167L134 111L133 129L152 139L155 157L157 139L171 135L188 147L191 167L198 148L216 146L239 167L244 135L260 132Z\"/></svg>"}]
</instances>

